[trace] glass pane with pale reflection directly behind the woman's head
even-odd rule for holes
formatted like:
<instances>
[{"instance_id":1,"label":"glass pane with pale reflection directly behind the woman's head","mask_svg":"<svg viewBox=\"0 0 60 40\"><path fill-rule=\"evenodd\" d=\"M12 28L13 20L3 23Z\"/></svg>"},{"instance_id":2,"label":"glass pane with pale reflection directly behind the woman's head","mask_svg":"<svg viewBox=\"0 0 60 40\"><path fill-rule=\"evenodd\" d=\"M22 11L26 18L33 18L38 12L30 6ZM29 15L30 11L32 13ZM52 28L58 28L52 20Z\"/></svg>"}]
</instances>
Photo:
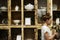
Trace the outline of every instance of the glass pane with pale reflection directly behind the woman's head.
<instances>
[{"instance_id":1,"label":"glass pane with pale reflection directly behind the woman's head","mask_svg":"<svg viewBox=\"0 0 60 40\"><path fill-rule=\"evenodd\" d=\"M46 14L47 0L38 0L38 23L41 23L42 15Z\"/></svg>"}]
</instances>

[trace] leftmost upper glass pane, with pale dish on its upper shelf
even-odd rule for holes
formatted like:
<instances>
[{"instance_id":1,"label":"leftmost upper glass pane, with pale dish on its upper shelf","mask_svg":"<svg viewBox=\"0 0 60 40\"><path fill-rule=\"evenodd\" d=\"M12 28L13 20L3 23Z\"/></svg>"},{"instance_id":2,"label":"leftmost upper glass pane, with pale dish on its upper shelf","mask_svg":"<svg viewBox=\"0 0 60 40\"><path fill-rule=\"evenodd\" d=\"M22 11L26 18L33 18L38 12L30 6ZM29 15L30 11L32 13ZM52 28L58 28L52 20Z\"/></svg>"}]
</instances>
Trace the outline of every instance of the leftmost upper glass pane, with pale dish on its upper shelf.
<instances>
[{"instance_id":1,"label":"leftmost upper glass pane, with pale dish on its upper shelf","mask_svg":"<svg viewBox=\"0 0 60 40\"><path fill-rule=\"evenodd\" d=\"M0 0L0 24L8 24L7 0Z\"/></svg>"}]
</instances>

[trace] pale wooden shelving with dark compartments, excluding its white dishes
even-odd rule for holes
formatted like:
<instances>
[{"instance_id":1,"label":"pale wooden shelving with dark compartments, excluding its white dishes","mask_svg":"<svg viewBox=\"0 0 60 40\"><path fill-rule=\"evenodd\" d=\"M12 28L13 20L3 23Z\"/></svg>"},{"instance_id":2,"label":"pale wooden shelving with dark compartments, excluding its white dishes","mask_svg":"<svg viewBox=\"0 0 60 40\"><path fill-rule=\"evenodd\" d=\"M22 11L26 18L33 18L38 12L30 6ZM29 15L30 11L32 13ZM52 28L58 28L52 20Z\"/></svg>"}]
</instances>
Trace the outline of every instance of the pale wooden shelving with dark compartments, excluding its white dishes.
<instances>
[{"instance_id":1,"label":"pale wooden shelving with dark compartments, excluding its white dishes","mask_svg":"<svg viewBox=\"0 0 60 40\"><path fill-rule=\"evenodd\" d=\"M25 5L29 3L34 5L34 9L32 11L27 11L24 8ZM0 8L2 6L7 8L5 11L2 11L3 9L0 11L0 14L2 15L0 18L0 30L4 30L2 32L6 34L6 40L16 40L17 35L21 36L21 40L38 40L38 30L41 28L41 25L38 25L40 24L38 23L39 18L37 13L38 3L38 0L0 0ZM47 4L49 3L46 3L46 5ZM16 6L19 7L17 11L15 10ZM31 25L25 25L25 18L31 18ZM20 20L20 23L15 25L13 20ZM1 38L0 40L4 39Z\"/></svg>"}]
</instances>

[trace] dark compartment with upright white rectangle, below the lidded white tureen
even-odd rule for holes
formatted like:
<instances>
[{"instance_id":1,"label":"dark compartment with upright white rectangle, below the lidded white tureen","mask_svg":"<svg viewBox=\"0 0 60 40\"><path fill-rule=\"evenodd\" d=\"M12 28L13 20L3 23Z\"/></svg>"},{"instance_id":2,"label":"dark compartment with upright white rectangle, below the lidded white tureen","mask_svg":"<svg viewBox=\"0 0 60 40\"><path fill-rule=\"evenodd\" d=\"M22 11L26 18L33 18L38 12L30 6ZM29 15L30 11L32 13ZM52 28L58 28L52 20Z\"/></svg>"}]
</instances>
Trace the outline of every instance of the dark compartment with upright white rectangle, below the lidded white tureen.
<instances>
[{"instance_id":1,"label":"dark compartment with upright white rectangle, below the lidded white tureen","mask_svg":"<svg viewBox=\"0 0 60 40\"><path fill-rule=\"evenodd\" d=\"M24 24L25 25L35 25L35 14L34 13L35 13L34 11L24 12ZM30 18L30 20L28 19L28 21L26 21L27 20L26 18Z\"/></svg>"}]
</instances>

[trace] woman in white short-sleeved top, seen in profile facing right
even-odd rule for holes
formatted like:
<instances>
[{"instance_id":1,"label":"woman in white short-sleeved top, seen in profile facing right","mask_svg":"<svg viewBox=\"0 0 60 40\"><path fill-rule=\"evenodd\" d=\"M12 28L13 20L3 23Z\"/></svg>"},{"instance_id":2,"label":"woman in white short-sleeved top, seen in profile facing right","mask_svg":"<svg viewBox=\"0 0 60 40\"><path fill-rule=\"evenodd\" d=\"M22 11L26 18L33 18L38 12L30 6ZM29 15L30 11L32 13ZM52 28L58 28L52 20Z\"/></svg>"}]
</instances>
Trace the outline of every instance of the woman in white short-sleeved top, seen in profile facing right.
<instances>
[{"instance_id":1,"label":"woman in white short-sleeved top, seen in profile facing right","mask_svg":"<svg viewBox=\"0 0 60 40\"><path fill-rule=\"evenodd\" d=\"M55 35L57 35L56 32L54 32L54 34L52 35L52 32L50 30L50 28L48 27L48 25L51 24L52 20L51 20L51 16L49 15L44 15L42 17L44 24L41 28L41 40L53 40L53 38L55 37Z\"/></svg>"}]
</instances>

